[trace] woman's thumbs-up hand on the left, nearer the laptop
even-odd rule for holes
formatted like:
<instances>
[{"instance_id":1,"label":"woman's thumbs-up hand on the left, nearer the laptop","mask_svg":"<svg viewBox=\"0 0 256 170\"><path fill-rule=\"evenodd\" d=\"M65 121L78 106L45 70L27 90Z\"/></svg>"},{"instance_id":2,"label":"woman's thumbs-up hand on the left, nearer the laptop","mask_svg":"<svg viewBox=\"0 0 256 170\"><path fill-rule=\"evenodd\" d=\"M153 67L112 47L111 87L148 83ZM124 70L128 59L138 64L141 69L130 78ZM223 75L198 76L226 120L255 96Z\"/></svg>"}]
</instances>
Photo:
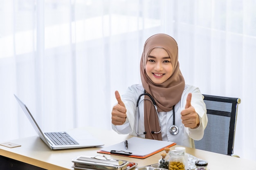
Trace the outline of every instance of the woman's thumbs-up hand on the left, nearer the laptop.
<instances>
[{"instance_id":1,"label":"woman's thumbs-up hand on the left, nearer the laptop","mask_svg":"<svg viewBox=\"0 0 256 170\"><path fill-rule=\"evenodd\" d=\"M118 91L115 91L115 96L118 103L112 109L112 124L122 125L126 121L126 107Z\"/></svg>"}]
</instances>

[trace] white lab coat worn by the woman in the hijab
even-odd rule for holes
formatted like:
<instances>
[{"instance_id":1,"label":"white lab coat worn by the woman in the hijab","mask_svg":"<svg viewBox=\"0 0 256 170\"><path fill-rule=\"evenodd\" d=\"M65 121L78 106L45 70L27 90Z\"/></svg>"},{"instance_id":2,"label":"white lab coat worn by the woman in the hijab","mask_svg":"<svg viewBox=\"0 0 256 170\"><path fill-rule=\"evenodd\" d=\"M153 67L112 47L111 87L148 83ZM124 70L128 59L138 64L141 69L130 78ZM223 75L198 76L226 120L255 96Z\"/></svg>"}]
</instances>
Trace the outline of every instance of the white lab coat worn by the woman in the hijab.
<instances>
[{"instance_id":1,"label":"white lab coat worn by the woman in the hijab","mask_svg":"<svg viewBox=\"0 0 256 170\"><path fill-rule=\"evenodd\" d=\"M134 128L137 99L142 93L144 93L143 86L141 84L134 84L127 89L124 95L121 96L121 99L126 106L127 119L123 125L115 126L112 124L112 129L117 133L145 137L145 135L137 135ZM186 105L186 97L188 93L192 93L191 105L195 108L195 111L198 113L200 118L200 126L195 129L184 127L181 121L180 112ZM141 96L141 99L144 99L144 95ZM179 128L177 135L171 135L169 132L170 126L173 125L173 110L169 112L159 112L159 119L162 124L162 139L164 141L173 141L178 145L191 148L195 147L194 140L202 139L204 135L204 129L206 128L208 122L206 114L207 111L203 99L204 97L201 94L199 88L187 84L185 85L181 100L175 105L175 125ZM139 120L137 121L138 131L139 133L143 133L145 131L144 101L139 104Z\"/></svg>"}]
</instances>

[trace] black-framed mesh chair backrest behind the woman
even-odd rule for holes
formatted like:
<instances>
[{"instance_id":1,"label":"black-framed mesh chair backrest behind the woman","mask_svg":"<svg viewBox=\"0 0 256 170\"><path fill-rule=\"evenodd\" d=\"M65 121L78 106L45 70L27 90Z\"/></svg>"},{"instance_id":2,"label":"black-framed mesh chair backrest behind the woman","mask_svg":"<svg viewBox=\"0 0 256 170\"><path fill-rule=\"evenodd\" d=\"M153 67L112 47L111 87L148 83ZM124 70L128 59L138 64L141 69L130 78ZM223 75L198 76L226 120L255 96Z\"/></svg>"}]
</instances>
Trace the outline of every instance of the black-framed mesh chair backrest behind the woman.
<instances>
[{"instance_id":1,"label":"black-framed mesh chair backrest behind the woman","mask_svg":"<svg viewBox=\"0 0 256 170\"><path fill-rule=\"evenodd\" d=\"M225 155L233 154L240 98L204 95L208 124L195 148Z\"/></svg>"}]
</instances>

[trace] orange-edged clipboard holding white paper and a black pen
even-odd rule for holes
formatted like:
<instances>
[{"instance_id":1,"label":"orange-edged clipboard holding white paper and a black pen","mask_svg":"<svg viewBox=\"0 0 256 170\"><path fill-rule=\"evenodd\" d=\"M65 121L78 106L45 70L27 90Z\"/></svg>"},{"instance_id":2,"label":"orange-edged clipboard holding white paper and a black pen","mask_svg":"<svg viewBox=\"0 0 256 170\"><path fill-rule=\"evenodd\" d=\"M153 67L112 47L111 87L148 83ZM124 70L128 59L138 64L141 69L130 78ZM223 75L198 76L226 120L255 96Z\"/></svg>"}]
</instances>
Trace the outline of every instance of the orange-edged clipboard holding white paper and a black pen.
<instances>
[{"instance_id":1,"label":"orange-edged clipboard holding white paper and a black pen","mask_svg":"<svg viewBox=\"0 0 256 170\"><path fill-rule=\"evenodd\" d=\"M154 139L144 139L140 137L131 137L128 141L128 148L125 148L125 143L120 142L105 148L101 148L98 153L119 155L124 157L133 157L144 159L151 155L176 145L170 141L158 141Z\"/></svg>"}]
</instances>

